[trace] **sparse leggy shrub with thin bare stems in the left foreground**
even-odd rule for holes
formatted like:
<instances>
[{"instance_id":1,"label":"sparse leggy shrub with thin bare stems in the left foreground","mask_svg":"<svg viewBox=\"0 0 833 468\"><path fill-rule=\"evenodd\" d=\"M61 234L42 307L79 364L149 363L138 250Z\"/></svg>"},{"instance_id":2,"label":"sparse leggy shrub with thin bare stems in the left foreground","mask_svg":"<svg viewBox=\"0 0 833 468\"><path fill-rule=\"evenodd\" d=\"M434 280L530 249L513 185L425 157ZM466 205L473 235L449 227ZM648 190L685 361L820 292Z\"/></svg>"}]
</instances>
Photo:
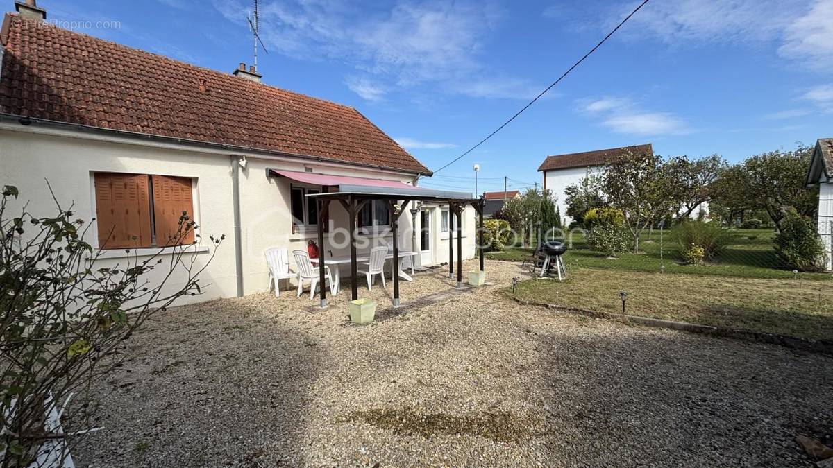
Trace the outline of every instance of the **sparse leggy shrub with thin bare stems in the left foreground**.
<instances>
[{"instance_id":1,"label":"sparse leggy shrub with thin bare stems in the left foreground","mask_svg":"<svg viewBox=\"0 0 833 468\"><path fill-rule=\"evenodd\" d=\"M3 187L0 201L0 449L3 466L27 466L45 441L72 434L50 432L47 411L80 388L89 388L118 365L123 346L155 311L201 292L197 276L214 256L197 266L184 247L172 253L102 267L102 251L84 240L90 227L72 207L57 204L54 217L35 217L23 207L9 213L16 187ZM182 213L174 240L196 227ZM216 247L222 241L212 238ZM159 281L147 280L155 271ZM177 275L177 286L165 288ZM84 398L84 397L82 397ZM76 421L89 421L87 405L73 406ZM75 419L75 418L73 418ZM53 455L63 466L66 452Z\"/></svg>"}]
</instances>

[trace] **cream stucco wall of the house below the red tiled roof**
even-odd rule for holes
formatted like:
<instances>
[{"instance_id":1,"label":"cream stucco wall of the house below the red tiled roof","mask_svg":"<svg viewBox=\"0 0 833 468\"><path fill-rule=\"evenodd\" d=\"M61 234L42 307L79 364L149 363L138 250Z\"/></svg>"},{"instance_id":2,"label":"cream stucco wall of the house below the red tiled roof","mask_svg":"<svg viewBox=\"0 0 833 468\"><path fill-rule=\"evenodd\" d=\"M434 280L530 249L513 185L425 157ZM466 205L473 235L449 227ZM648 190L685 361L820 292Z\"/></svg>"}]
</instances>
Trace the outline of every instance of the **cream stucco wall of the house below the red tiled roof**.
<instances>
[{"instance_id":1,"label":"cream stucco wall of the house below the red tiled roof","mask_svg":"<svg viewBox=\"0 0 833 468\"><path fill-rule=\"evenodd\" d=\"M141 142L118 137L102 137L82 132L58 131L44 127L21 127L12 124L0 126L0 185L14 185L20 189L17 206L29 202L29 210L36 216L54 213L54 203L44 182L49 180L58 200L72 201L77 216L90 220L94 217L93 172L132 172L177 177L193 177L197 183L194 197L194 217L204 237L202 251L197 253L197 266L204 264L213 246L209 235L226 235L207 270L202 275L202 296L188 297L184 301L205 301L217 297L235 296L236 271L233 240L232 206L232 152L195 150L192 148ZM236 154L243 154L236 152ZM245 294L267 289L267 266L263 251L272 246L286 246L291 252L305 248L309 239L317 240L316 232L292 234L289 200L290 181L285 178L267 178L267 167L301 171L312 167L314 172L353 177L372 177L412 182L413 176L397 172L382 172L370 168L349 167L327 163L286 161L281 158L247 156L247 167L240 172L242 263ZM410 207L408 207L410 208ZM347 227L347 213L337 202L331 206L333 226ZM439 229L439 211L436 211L434 227ZM466 210L466 227L475 227L474 210ZM417 227L418 228L418 227ZM410 213L400 218L400 248L411 250L412 236ZM348 255L349 247L332 247L332 241L347 244L344 239L331 239L325 235L323 251L334 255ZM437 236L439 233L437 232ZM471 258L475 252L474 236L467 236L464 256ZM372 232L362 235L359 251L369 251L373 241L391 239L390 232ZM97 245L97 230L93 227L87 238ZM445 256L443 256L443 249ZM102 260L102 266L124 264L123 250L108 252L112 258ZM435 258L447 257L447 246L436 243ZM439 261L437 261L439 262ZM293 264L293 261L290 261ZM349 275L349 268L342 269L342 277ZM158 280L153 278L152 280ZM181 281L180 281L181 282ZM171 282L177 284L176 279Z\"/></svg>"}]
</instances>

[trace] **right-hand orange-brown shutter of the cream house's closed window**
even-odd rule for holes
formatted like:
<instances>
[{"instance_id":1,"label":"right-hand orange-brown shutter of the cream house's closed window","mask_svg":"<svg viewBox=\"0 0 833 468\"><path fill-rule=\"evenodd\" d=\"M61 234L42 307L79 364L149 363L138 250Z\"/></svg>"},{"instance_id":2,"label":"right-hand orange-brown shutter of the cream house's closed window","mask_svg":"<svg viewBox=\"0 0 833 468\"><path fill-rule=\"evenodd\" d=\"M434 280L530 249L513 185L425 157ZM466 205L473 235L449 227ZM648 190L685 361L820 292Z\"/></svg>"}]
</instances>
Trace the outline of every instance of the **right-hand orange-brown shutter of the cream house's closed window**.
<instances>
[{"instance_id":1,"label":"right-hand orange-brown shutter of the cream house's closed window","mask_svg":"<svg viewBox=\"0 0 833 468\"><path fill-rule=\"evenodd\" d=\"M153 220L156 224L157 246L194 243L194 230L177 242L179 218L187 212L193 221L194 207L190 177L153 177ZM185 229L183 225L182 229Z\"/></svg>"}]
</instances>

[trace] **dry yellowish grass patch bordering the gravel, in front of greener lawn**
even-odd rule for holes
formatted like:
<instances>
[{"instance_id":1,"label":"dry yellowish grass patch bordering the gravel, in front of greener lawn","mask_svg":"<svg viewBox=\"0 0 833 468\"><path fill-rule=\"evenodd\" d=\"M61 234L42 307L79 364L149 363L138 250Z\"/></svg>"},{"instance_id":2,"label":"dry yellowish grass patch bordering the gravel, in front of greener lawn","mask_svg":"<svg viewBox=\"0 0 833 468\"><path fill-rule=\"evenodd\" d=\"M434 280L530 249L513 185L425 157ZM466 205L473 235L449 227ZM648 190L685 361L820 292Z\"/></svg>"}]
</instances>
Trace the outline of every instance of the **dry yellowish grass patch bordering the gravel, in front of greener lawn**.
<instances>
[{"instance_id":1,"label":"dry yellowish grass patch bordering the gravel, in front of greener lawn","mask_svg":"<svg viewBox=\"0 0 833 468\"><path fill-rule=\"evenodd\" d=\"M619 262L619 261L616 261ZM823 281L581 268L566 281L521 281L515 296L556 306L626 313L814 340L833 336L833 288Z\"/></svg>"}]
</instances>

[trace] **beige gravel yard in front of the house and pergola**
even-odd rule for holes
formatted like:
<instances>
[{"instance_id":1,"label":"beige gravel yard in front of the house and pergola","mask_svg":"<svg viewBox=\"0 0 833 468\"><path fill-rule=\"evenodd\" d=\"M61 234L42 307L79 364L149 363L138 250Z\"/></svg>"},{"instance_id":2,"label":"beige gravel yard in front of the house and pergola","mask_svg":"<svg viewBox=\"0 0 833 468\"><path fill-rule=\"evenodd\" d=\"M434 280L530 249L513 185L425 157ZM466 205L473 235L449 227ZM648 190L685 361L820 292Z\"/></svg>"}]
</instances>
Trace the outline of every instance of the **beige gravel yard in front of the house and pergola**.
<instances>
[{"instance_id":1,"label":"beige gravel yard in front of the house and pergola","mask_svg":"<svg viewBox=\"0 0 833 468\"><path fill-rule=\"evenodd\" d=\"M830 357L519 306L496 291L513 263L476 290L443 271L370 326L349 286L324 311L287 291L160 313L94 389L106 429L77 464L809 466L794 437L831 434Z\"/></svg>"}]
</instances>

